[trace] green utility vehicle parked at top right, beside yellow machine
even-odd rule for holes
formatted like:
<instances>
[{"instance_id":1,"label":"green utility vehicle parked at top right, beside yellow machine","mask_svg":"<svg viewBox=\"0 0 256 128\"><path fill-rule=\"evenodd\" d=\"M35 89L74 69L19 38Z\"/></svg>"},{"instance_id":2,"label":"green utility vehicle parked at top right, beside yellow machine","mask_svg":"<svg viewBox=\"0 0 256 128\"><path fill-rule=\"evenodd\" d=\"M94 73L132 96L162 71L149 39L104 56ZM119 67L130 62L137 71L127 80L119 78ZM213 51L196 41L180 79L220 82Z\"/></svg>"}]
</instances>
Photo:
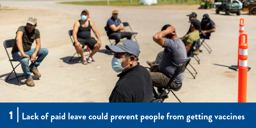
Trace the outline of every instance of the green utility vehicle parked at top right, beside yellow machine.
<instances>
[{"instance_id":1,"label":"green utility vehicle parked at top right, beside yellow machine","mask_svg":"<svg viewBox=\"0 0 256 128\"><path fill-rule=\"evenodd\" d=\"M216 14L220 14L220 11L223 11L226 15L229 15L229 13L240 15L240 10L242 10L241 6L236 4L234 0L222 0L221 5L216 9Z\"/></svg>"}]
</instances>

